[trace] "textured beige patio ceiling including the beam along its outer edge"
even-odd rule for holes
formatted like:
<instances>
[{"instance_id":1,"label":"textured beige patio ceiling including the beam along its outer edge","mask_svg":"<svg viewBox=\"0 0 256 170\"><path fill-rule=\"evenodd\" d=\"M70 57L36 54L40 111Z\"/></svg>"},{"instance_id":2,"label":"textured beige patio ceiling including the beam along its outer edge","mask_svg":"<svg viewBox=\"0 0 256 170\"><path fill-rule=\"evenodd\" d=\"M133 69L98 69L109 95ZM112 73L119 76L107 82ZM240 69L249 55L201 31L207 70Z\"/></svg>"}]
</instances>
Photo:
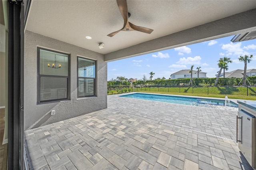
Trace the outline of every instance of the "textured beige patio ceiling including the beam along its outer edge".
<instances>
[{"instance_id":1,"label":"textured beige patio ceiling including the beam along its outer edge","mask_svg":"<svg viewBox=\"0 0 256 170\"><path fill-rule=\"evenodd\" d=\"M128 21L153 29L151 34L122 31L108 37L124 24L116 0L34 0L26 30L102 53L105 61L256 30L256 2L250 0L127 0L127 5Z\"/></svg>"}]
</instances>

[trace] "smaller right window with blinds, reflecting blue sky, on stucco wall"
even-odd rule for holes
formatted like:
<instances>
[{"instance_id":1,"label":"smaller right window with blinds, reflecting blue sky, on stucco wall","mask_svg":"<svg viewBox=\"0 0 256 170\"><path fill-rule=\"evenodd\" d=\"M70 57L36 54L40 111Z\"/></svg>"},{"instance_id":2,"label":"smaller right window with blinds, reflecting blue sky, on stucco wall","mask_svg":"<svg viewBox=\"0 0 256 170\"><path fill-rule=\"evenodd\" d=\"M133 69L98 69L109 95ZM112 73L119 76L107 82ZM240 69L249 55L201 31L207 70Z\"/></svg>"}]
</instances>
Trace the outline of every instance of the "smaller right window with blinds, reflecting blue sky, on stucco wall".
<instances>
[{"instance_id":1,"label":"smaller right window with blinds, reflecting blue sky, on stucco wall","mask_svg":"<svg viewBox=\"0 0 256 170\"><path fill-rule=\"evenodd\" d=\"M96 61L77 57L78 97L95 96Z\"/></svg>"}]
</instances>

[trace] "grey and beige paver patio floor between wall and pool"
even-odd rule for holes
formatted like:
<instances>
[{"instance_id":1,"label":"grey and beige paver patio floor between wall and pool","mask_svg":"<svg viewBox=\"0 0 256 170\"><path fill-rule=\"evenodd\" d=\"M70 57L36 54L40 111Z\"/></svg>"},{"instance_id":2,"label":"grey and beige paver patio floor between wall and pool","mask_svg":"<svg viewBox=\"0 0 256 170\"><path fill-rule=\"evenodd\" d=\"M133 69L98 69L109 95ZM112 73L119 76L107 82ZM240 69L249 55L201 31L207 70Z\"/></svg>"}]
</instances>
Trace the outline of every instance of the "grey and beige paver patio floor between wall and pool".
<instances>
[{"instance_id":1,"label":"grey and beige paver patio floor between wall and pool","mask_svg":"<svg viewBox=\"0 0 256 170\"><path fill-rule=\"evenodd\" d=\"M108 96L108 108L25 131L30 169L252 169L236 111Z\"/></svg>"}]
</instances>

